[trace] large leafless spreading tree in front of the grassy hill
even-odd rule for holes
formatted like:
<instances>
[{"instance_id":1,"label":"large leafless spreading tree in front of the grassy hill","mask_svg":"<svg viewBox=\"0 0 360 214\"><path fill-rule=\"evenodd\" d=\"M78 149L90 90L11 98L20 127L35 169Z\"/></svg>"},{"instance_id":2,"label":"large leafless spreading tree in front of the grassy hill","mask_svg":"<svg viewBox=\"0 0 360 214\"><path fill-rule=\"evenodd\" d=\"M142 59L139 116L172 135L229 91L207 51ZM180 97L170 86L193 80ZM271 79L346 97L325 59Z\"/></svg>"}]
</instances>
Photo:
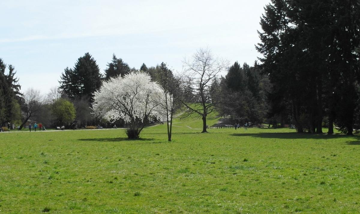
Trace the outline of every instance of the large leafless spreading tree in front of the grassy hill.
<instances>
[{"instance_id":1,"label":"large leafless spreading tree in front of the grassy hill","mask_svg":"<svg viewBox=\"0 0 360 214\"><path fill-rule=\"evenodd\" d=\"M211 50L199 49L191 58L183 61L185 74L182 84L184 94L191 94L195 102L189 104L184 97L182 103L186 107L186 115L197 113L203 120L203 131L206 131L206 117L216 111L217 102L211 101L210 87L212 81L219 76L228 65L228 61L213 56ZM190 93L189 93L190 92Z\"/></svg>"}]
</instances>

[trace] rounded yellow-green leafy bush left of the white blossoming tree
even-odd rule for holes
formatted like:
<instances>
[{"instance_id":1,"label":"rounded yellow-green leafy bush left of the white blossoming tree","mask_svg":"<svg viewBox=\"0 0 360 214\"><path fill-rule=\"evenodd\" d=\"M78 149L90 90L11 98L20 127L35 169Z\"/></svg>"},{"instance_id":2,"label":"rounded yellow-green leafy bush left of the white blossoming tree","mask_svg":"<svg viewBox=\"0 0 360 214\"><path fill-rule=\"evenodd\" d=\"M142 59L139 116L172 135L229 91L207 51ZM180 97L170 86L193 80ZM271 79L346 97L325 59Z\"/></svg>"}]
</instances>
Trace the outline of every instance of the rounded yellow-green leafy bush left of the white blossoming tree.
<instances>
[{"instance_id":1,"label":"rounded yellow-green leafy bush left of the white blossoming tree","mask_svg":"<svg viewBox=\"0 0 360 214\"><path fill-rule=\"evenodd\" d=\"M58 125L65 125L73 122L76 111L74 105L70 101L60 98L54 102L52 106L52 114L56 121L55 123Z\"/></svg>"}]
</instances>

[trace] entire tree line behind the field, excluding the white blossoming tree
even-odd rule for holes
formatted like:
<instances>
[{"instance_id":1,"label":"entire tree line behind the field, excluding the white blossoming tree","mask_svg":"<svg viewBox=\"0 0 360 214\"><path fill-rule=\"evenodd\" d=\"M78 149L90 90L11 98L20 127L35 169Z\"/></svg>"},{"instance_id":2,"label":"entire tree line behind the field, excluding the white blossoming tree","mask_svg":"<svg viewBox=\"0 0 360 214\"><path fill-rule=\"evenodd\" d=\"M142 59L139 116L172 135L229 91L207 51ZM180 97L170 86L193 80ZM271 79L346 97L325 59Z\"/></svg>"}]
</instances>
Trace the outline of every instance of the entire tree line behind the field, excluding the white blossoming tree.
<instances>
[{"instance_id":1,"label":"entire tree line behind the field, excluding the white blossoming tree","mask_svg":"<svg viewBox=\"0 0 360 214\"><path fill-rule=\"evenodd\" d=\"M163 96L169 99L165 105L172 106L167 117L172 118L174 109L181 117L198 115L202 132L207 132L207 116L216 111L234 123L293 124L298 132L311 133L327 127L329 134L335 125L351 135L360 124L358 1L271 0L264 10L256 45L263 56L253 65L235 62L228 67L228 60L199 49L175 75L166 63L130 68L113 54L102 74L85 53L64 69L59 87L40 98L36 90L22 95L14 67L0 61L0 121L21 120L23 125L28 119L49 118L49 124L74 128L107 124L93 115L94 93L113 78L143 72L170 96ZM112 122L125 124L123 119ZM171 120L167 130L171 139Z\"/></svg>"}]
</instances>

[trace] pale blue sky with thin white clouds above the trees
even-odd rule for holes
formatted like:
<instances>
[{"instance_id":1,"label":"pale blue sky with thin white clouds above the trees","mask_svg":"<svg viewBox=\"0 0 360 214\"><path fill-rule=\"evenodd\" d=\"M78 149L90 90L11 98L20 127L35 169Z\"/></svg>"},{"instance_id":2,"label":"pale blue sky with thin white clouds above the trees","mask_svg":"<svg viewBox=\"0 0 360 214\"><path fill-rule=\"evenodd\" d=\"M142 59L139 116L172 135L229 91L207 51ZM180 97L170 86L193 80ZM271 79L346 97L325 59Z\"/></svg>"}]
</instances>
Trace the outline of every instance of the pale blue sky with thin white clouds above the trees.
<instances>
[{"instance_id":1,"label":"pale blue sky with thin white clouds above the trees","mask_svg":"<svg viewBox=\"0 0 360 214\"><path fill-rule=\"evenodd\" d=\"M1 0L0 58L22 91L43 94L89 52L104 73L112 54L139 69L161 62L181 71L199 48L250 65L270 0Z\"/></svg>"}]
</instances>

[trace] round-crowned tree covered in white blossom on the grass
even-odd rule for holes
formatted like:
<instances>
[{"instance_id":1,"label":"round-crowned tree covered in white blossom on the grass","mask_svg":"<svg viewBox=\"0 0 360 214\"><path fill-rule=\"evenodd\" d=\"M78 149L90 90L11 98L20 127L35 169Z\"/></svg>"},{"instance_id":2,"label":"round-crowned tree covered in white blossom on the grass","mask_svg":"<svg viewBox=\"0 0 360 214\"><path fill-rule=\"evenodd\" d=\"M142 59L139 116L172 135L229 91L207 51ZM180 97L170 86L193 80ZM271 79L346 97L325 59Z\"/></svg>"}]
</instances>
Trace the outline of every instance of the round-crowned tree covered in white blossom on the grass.
<instances>
[{"instance_id":1,"label":"round-crowned tree covered in white blossom on the grass","mask_svg":"<svg viewBox=\"0 0 360 214\"><path fill-rule=\"evenodd\" d=\"M93 114L110 122L123 119L130 138L139 138L145 124L157 118L163 121L162 88L143 72L132 72L103 82L94 94Z\"/></svg>"}]
</instances>

